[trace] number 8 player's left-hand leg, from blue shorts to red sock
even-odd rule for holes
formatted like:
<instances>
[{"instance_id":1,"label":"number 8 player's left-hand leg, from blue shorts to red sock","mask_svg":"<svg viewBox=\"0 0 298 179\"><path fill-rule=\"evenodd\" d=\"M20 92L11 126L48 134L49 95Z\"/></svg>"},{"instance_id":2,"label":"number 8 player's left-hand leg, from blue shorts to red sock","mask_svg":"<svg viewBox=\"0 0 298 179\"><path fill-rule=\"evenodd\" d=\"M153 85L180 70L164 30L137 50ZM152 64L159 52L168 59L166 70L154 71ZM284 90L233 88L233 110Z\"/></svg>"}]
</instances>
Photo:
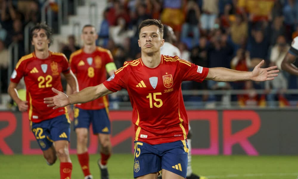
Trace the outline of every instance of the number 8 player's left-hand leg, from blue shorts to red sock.
<instances>
[{"instance_id":1,"label":"number 8 player's left-hand leg, from blue shorts to red sock","mask_svg":"<svg viewBox=\"0 0 298 179\"><path fill-rule=\"evenodd\" d=\"M88 153L88 129L90 126L90 114L88 110L75 107L75 132L77 134L77 158L86 179L92 179L89 169L89 153Z\"/></svg>"}]
</instances>

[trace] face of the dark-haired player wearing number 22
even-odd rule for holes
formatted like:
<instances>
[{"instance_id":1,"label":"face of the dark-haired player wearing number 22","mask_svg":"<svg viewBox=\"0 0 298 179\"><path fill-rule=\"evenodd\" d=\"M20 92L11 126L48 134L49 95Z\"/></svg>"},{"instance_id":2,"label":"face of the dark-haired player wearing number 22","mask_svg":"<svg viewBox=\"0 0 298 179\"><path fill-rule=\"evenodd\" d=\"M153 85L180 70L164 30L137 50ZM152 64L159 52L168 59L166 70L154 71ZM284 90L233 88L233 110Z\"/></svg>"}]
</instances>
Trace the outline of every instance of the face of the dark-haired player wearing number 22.
<instances>
[{"instance_id":1,"label":"face of the dark-haired player wearing number 22","mask_svg":"<svg viewBox=\"0 0 298 179\"><path fill-rule=\"evenodd\" d=\"M49 49L49 39L46 36L46 31L44 29L35 29L32 36L32 45L35 51L44 51Z\"/></svg>"}]
</instances>

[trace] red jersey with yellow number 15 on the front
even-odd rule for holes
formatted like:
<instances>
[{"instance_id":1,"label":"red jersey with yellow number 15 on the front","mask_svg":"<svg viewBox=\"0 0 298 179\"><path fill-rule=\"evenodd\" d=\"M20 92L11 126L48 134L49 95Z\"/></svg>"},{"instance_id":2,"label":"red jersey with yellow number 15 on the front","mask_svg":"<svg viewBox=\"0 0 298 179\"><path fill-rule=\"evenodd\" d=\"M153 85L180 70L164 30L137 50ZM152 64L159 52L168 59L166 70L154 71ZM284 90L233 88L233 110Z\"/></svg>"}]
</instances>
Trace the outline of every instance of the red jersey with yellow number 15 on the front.
<instances>
[{"instance_id":1,"label":"red jersey with yellow number 15 on the front","mask_svg":"<svg viewBox=\"0 0 298 179\"><path fill-rule=\"evenodd\" d=\"M155 68L142 59L125 62L103 84L116 92L125 88L133 107L136 141L149 144L185 140L188 118L182 98L182 81L202 82L209 69L180 59L161 55Z\"/></svg>"}]
</instances>

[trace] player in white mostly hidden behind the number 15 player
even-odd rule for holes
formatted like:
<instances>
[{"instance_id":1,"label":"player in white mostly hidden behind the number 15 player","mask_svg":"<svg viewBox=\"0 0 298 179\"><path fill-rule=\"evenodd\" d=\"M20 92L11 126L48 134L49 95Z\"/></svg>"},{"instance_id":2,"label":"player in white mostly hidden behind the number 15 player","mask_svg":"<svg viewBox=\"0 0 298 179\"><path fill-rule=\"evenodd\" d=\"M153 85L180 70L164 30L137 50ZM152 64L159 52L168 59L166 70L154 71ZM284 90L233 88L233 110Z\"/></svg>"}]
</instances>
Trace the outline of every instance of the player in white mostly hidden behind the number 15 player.
<instances>
[{"instance_id":1,"label":"player in white mostly hidden behind the number 15 player","mask_svg":"<svg viewBox=\"0 0 298 179\"><path fill-rule=\"evenodd\" d=\"M168 55L168 56L178 56L181 57L180 50L173 45L173 42L177 40L175 33L172 29L172 27L168 25L164 25L164 45L160 47L160 54L161 55ZM206 179L204 176L198 176L193 173L193 170L191 168L191 136L192 131L190 129L190 124L188 124L188 134L187 134L187 146L188 146L188 162L187 162L187 173L186 173L186 179ZM158 178L162 178L161 175L158 176Z\"/></svg>"}]
</instances>

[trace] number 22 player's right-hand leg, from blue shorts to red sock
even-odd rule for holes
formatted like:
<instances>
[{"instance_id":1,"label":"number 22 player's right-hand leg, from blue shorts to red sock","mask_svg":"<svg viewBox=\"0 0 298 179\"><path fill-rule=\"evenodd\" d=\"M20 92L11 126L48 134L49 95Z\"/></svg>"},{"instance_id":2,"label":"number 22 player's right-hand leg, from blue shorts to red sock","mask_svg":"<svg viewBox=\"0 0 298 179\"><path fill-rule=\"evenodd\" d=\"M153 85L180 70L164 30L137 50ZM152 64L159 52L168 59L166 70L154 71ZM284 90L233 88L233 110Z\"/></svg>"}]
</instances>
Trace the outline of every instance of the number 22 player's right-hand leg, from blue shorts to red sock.
<instances>
[{"instance_id":1,"label":"number 22 player's right-hand leg, from blue shorts to red sock","mask_svg":"<svg viewBox=\"0 0 298 179\"><path fill-rule=\"evenodd\" d=\"M60 160L60 179L70 179L72 175L72 161L68 150L70 121L66 115L60 115L50 120L50 127L54 147Z\"/></svg>"}]
</instances>

